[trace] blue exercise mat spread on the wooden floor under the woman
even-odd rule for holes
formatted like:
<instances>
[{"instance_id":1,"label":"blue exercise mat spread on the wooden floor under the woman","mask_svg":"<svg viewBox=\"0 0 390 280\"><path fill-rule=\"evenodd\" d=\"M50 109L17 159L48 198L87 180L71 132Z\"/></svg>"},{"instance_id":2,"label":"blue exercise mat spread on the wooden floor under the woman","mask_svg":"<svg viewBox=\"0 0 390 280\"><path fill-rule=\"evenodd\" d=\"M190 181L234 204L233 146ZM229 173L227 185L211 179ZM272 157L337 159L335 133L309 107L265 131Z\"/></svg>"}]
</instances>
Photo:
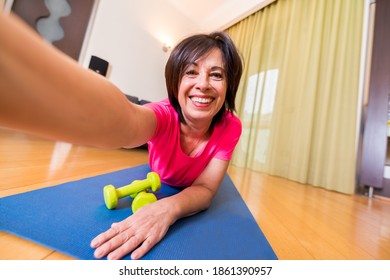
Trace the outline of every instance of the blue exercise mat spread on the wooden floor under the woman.
<instances>
[{"instance_id":1,"label":"blue exercise mat spread on the wooden floor under the woman","mask_svg":"<svg viewBox=\"0 0 390 280\"><path fill-rule=\"evenodd\" d=\"M91 240L131 215L130 197L108 210L103 187L121 187L146 177L148 165L0 198L0 230L77 259L94 259ZM162 185L159 199L178 190ZM129 259L126 256L124 259ZM248 207L226 175L206 211L177 221L143 259L277 259Z\"/></svg>"}]
</instances>

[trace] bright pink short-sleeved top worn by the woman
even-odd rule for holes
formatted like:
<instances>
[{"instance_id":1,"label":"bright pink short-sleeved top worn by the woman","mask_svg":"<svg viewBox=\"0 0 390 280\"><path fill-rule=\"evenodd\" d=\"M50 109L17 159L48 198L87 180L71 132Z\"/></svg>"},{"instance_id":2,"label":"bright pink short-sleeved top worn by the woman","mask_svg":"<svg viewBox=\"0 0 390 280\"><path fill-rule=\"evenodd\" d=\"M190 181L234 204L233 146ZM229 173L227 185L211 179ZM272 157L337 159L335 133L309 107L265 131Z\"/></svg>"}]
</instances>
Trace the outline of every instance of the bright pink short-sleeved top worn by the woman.
<instances>
[{"instance_id":1,"label":"bright pink short-sleeved top worn by the woman","mask_svg":"<svg viewBox=\"0 0 390 280\"><path fill-rule=\"evenodd\" d=\"M202 173L211 159L230 160L241 135L241 122L226 112L225 118L216 124L203 148L191 157L183 153L180 145L179 116L168 99L148 103L157 117L157 128L148 142L150 168L161 181L175 187L190 186Z\"/></svg>"}]
</instances>

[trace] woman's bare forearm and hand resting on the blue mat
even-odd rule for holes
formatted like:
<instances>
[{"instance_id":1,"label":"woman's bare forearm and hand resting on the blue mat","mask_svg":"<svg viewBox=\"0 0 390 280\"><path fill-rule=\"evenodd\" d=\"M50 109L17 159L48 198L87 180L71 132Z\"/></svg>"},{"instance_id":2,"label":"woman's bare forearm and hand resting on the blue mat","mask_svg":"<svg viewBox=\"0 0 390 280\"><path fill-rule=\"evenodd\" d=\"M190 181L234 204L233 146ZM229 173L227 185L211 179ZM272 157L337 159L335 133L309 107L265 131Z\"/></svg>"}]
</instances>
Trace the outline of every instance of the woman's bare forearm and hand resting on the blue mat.
<instances>
[{"instance_id":1,"label":"woman's bare forearm and hand resting on the blue mat","mask_svg":"<svg viewBox=\"0 0 390 280\"><path fill-rule=\"evenodd\" d=\"M209 207L229 162L213 159L190 187L180 193L140 208L127 219L115 223L91 242L95 257L120 259L132 252L139 259L156 245L178 219ZM139 246L139 247L138 247ZM137 248L138 247L138 248Z\"/></svg>"}]
</instances>

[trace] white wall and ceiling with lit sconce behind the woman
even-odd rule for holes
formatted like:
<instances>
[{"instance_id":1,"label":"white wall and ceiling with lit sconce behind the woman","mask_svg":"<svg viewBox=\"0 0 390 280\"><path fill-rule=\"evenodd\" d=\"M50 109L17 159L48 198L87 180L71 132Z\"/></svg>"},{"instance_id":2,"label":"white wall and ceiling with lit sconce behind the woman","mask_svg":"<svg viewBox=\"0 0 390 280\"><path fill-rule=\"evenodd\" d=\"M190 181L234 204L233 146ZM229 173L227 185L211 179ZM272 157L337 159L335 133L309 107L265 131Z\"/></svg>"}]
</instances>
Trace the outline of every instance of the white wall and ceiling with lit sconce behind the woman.
<instances>
[{"instance_id":1,"label":"white wall and ceiling with lit sconce behind the woman","mask_svg":"<svg viewBox=\"0 0 390 280\"><path fill-rule=\"evenodd\" d=\"M80 63L88 67L91 55L101 57L110 63L108 79L125 94L158 101L167 97L165 42L175 44L189 34L219 29L264 0L219 0L220 9L208 14L202 11L209 0L97 1Z\"/></svg>"}]
</instances>

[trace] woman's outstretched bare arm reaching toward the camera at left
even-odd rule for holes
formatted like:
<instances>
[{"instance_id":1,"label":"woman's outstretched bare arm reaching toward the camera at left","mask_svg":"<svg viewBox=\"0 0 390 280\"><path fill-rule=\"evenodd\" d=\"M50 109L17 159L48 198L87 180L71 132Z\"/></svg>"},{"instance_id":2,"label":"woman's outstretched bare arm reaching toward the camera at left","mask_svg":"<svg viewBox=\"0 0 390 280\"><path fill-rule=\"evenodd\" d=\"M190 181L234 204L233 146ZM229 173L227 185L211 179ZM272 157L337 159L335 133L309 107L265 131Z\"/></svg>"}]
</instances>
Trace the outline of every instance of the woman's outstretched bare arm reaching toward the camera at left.
<instances>
[{"instance_id":1,"label":"woman's outstretched bare arm reaching toward the camera at left","mask_svg":"<svg viewBox=\"0 0 390 280\"><path fill-rule=\"evenodd\" d=\"M150 139L154 113L0 12L0 126L104 148Z\"/></svg>"}]
</instances>

